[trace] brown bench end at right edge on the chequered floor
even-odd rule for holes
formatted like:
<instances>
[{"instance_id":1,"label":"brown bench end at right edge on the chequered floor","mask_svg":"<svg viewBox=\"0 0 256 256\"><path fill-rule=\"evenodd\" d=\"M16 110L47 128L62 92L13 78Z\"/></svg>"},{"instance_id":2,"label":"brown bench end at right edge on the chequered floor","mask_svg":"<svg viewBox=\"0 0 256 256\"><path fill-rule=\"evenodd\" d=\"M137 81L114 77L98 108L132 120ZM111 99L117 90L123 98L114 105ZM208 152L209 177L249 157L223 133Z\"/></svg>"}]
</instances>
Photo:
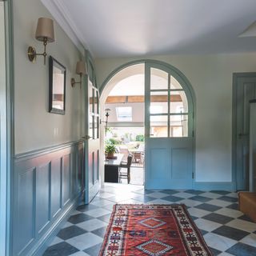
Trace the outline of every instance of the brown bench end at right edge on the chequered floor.
<instances>
[{"instance_id":1,"label":"brown bench end at right edge on the chequered floor","mask_svg":"<svg viewBox=\"0 0 256 256\"><path fill-rule=\"evenodd\" d=\"M238 192L239 210L256 222L256 193L241 191Z\"/></svg>"}]
</instances>

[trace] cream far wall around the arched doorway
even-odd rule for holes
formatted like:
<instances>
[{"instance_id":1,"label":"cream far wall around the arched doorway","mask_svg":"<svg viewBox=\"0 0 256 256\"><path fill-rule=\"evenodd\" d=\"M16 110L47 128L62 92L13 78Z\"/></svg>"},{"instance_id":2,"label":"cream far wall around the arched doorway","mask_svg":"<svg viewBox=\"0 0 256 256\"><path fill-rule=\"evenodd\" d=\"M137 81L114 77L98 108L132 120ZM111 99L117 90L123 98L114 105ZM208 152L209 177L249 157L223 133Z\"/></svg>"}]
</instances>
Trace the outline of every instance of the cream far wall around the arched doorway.
<instances>
[{"instance_id":1,"label":"cream far wall around the arched doorway","mask_svg":"<svg viewBox=\"0 0 256 256\"><path fill-rule=\"evenodd\" d=\"M142 58L98 58L98 85L136 59L167 62L190 81L196 97L196 182L232 182L232 76L256 72L256 54L171 55Z\"/></svg>"}]
</instances>

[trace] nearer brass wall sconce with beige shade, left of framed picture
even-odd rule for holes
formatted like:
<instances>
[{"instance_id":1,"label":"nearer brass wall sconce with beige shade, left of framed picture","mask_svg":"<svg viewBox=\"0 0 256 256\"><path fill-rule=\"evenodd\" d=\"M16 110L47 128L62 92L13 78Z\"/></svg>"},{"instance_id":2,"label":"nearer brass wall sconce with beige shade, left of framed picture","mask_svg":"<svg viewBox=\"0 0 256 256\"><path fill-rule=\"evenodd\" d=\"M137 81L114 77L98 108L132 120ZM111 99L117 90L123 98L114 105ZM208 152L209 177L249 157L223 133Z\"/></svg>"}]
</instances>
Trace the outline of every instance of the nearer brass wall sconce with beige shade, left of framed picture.
<instances>
[{"instance_id":1,"label":"nearer brass wall sconce with beige shade, left of framed picture","mask_svg":"<svg viewBox=\"0 0 256 256\"><path fill-rule=\"evenodd\" d=\"M44 52L37 54L34 47L29 46L27 50L27 56L30 62L35 62L37 56L41 55L44 58L44 65L46 65L46 46L48 42L54 42L54 21L50 18L38 18L38 26L35 32L35 38L38 41L43 42Z\"/></svg>"}]
</instances>

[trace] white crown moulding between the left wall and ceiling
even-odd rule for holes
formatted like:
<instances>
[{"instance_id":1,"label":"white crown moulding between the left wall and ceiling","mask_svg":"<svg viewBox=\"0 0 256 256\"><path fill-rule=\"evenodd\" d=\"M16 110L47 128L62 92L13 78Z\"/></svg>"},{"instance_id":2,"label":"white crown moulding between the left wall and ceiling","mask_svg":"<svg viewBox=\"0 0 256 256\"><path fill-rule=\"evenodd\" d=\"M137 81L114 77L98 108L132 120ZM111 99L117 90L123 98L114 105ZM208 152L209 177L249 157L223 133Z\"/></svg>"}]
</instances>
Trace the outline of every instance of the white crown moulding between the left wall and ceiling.
<instances>
[{"instance_id":1,"label":"white crown moulding between the left wall and ceiling","mask_svg":"<svg viewBox=\"0 0 256 256\"><path fill-rule=\"evenodd\" d=\"M70 18L68 10L63 6L61 1L41 0L46 9L50 11L59 26L66 32L68 37L78 47L78 50L84 54L84 48L89 50L86 42L82 39L82 33L74 25L74 21Z\"/></svg>"}]
</instances>

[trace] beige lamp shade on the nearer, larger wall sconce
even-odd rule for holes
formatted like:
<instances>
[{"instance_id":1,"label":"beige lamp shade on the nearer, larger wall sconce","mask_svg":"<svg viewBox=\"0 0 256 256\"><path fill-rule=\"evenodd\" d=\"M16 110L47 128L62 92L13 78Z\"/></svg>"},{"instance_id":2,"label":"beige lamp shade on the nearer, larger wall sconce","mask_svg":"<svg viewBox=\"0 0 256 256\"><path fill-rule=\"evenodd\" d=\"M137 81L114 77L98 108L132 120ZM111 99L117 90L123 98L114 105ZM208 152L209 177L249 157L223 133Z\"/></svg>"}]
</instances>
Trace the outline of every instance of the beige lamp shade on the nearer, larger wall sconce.
<instances>
[{"instance_id":1,"label":"beige lamp shade on the nearer, larger wall sconce","mask_svg":"<svg viewBox=\"0 0 256 256\"><path fill-rule=\"evenodd\" d=\"M54 42L54 21L50 18L38 18L35 38L37 38L38 41L44 41L44 39L47 38L48 42Z\"/></svg>"}]
</instances>

